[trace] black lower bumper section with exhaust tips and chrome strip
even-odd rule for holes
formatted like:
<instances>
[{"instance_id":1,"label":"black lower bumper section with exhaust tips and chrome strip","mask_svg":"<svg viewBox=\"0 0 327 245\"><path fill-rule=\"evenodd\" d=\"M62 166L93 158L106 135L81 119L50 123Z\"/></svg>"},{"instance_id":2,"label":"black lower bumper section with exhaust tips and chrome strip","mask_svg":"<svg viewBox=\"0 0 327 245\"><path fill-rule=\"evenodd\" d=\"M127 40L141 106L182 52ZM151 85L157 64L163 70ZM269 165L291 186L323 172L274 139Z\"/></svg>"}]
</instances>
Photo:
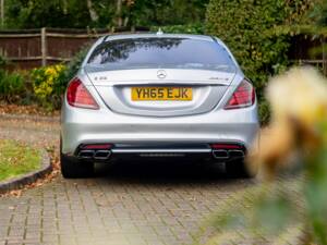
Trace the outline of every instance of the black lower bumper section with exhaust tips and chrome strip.
<instances>
[{"instance_id":1,"label":"black lower bumper section with exhaust tips and chrome strip","mask_svg":"<svg viewBox=\"0 0 327 245\"><path fill-rule=\"evenodd\" d=\"M108 146L99 149L99 146ZM226 147L223 147L226 146ZM228 148L232 147L232 148ZM234 148L237 147L237 148ZM242 144L222 145L219 149L210 144L83 144L74 152L75 158L84 161L108 162L122 159L187 159L227 162L243 159L246 148Z\"/></svg>"}]
</instances>

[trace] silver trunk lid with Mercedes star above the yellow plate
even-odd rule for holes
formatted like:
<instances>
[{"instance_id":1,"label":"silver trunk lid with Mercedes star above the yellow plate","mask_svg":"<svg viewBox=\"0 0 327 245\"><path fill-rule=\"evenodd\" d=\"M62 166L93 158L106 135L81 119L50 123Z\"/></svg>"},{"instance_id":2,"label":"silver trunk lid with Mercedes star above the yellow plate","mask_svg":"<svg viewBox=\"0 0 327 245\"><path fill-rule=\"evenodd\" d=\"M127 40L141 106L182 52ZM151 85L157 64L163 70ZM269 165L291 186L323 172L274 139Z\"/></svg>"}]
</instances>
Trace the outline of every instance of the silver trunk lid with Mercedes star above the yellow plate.
<instances>
[{"instance_id":1,"label":"silver trunk lid with Mercedes star above the yellow plate","mask_svg":"<svg viewBox=\"0 0 327 245\"><path fill-rule=\"evenodd\" d=\"M86 69L85 71L109 109L118 113L147 117L178 117L209 112L221 100L235 75L223 71L185 69L119 71ZM183 89L189 89L192 99L178 97L161 100L155 96L155 98L135 100L132 96L133 89L135 94L135 89L147 93L152 88L162 88L161 91L166 94L169 94L170 88L175 88L172 89L175 97L178 94L183 94Z\"/></svg>"}]
</instances>

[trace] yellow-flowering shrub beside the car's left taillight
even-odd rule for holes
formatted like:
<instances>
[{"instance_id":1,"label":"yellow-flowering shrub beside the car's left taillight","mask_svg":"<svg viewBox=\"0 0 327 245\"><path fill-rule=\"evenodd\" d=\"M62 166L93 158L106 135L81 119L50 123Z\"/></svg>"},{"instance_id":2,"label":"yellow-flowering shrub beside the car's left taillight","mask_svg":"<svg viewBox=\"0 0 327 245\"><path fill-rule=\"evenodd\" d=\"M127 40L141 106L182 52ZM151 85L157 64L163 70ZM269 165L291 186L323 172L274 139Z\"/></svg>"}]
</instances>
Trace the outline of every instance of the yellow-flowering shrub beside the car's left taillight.
<instances>
[{"instance_id":1,"label":"yellow-flowering shrub beside the car's left taillight","mask_svg":"<svg viewBox=\"0 0 327 245\"><path fill-rule=\"evenodd\" d=\"M66 68L62 64L34 69L31 73L33 89L38 102L49 109L59 109L66 86Z\"/></svg>"}]
</instances>

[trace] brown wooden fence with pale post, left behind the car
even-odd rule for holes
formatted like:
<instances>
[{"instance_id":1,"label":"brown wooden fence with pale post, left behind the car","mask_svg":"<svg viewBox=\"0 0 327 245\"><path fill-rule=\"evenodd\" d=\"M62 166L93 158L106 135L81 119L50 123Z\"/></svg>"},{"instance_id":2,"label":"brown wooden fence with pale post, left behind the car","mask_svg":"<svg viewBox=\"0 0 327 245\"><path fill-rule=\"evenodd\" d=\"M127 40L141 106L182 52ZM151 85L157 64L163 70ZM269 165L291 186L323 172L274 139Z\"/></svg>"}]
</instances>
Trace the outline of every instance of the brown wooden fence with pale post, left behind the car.
<instances>
[{"instance_id":1,"label":"brown wooden fence with pale post, left behind the car","mask_svg":"<svg viewBox=\"0 0 327 245\"><path fill-rule=\"evenodd\" d=\"M0 56L9 61L9 69L33 69L66 62L85 45L104 35L116 33L147 32L133 29L59 29L1 30Z\"/></svg>"}]
</instances>

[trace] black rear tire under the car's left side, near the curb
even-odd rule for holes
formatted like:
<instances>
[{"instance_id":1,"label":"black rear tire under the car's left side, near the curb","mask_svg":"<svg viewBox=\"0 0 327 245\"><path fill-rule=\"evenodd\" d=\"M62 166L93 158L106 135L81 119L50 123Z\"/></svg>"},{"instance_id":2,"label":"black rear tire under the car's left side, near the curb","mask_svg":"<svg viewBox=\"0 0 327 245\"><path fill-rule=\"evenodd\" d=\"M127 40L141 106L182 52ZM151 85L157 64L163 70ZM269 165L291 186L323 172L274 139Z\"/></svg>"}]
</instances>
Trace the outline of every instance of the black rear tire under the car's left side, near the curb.
<instances>
[{"instance_id":1,"label":"black rear tire under the car's left side, near the curb","mask_svg":"<svg viewBox=\"0 0 327 245\"><path fill-rule=\"evenodd\" d=\"M64 179L89 177L94 174L93 162L80 162L77 159L60 155L61 174Z\"/></svg>"}]
</instances>

